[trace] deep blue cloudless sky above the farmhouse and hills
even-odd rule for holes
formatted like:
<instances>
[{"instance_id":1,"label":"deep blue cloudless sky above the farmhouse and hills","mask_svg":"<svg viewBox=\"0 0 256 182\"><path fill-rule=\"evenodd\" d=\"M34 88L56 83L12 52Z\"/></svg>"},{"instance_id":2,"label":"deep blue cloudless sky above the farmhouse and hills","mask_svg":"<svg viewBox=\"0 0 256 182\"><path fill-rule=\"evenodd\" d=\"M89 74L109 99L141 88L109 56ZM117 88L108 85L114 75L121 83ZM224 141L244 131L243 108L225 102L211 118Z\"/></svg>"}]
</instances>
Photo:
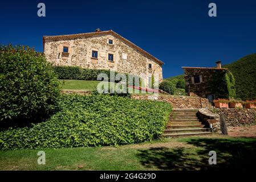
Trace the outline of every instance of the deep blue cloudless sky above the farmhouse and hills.
<instances>
[{"instance_id":1,"label":"deep blue cloudless sky above the farmhouse and hills","mask_svg":"<svg viewBox=\"0 0 256 182\"><path fill-rule=\"evenodd\" d=\"M37 5L46 5L46 17ZM217 5L217 17L208 5ZM163 76L182 66L214 67L256 53L256 1L3 1L0 44L43 51L43 35L113 30L165 64Z\"/></svg>"}]
</instances>

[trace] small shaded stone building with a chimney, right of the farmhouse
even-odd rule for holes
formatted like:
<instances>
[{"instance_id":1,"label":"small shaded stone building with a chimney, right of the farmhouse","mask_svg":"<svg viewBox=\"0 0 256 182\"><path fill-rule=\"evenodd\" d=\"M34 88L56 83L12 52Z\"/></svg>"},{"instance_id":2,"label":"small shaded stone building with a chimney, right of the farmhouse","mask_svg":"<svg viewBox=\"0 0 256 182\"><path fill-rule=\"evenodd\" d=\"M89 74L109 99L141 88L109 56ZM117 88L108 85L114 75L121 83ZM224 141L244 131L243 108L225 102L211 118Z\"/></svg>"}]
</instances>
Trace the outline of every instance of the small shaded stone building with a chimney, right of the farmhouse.
<instances>
[{"instance_id":1,"label":"small shaded stone building with a chimney, right of the farmhouse","mask_svg":"<svg viewBox=\"0 0 256 182\"><path fill-rule=\"evenodd\" d=\"M213 101L217 93L213 92L213 81L217 75L222 75L228 69L221 68L221 61L217 61L217 68L202 68L202 67L182 67L184 69L184 78L186 90L189 96L200 96Z\"/></svg>"}]
</instances>

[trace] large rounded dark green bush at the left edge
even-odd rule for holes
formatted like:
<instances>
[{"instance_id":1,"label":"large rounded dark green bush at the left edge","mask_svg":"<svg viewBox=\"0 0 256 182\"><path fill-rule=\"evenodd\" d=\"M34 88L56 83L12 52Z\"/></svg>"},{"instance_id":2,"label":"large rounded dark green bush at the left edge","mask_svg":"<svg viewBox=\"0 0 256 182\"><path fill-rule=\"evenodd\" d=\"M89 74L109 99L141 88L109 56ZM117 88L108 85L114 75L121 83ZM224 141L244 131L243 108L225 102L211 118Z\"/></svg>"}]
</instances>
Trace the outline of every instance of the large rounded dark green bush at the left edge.
<instances>
[{"instance_id":1,"label":"large rounded dark green bush at the left edge","mask_svg":"<svg viewBox=\"0 0 256 182\"><path fill-rule=\"evenodd\" d=\"M60 85L42 53L24 46L0 46L0 120L47 117L56 109Z\"/></svg>"}]
</instances>

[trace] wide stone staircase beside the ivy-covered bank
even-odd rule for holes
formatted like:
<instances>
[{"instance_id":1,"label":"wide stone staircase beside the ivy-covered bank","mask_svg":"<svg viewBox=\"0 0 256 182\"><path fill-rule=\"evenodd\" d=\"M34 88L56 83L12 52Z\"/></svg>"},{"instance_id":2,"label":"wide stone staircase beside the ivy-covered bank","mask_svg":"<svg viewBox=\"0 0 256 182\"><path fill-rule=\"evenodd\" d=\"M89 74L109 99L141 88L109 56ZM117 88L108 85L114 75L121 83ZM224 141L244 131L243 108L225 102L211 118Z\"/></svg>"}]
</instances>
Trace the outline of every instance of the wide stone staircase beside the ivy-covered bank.
<instances>
[{"instance_id":1,"label":"wide stone staircase beside the ivy-covered bank","mask_svg":"<svg viewBox=\"0 0 256 182\"><path fill-rule=\"evenodd\" d=\"M173 115L164 131L164 137L186 137L211 135L209 128L204 128L197 118L197 109L173 109Z\"/></svg>"}]
</instances>

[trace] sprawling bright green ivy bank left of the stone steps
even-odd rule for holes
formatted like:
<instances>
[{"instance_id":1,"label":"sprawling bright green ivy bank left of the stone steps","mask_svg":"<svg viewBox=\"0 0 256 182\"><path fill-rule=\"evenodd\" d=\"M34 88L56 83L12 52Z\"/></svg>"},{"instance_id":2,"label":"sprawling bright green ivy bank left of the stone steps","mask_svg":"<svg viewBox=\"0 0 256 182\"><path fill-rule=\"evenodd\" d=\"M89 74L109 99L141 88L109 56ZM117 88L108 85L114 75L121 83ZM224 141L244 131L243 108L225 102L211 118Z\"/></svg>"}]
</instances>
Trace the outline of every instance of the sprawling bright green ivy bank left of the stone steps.
<instances>
[{"instance_id":1,"label":"sprawling bright green ivy bank left of the stone steps","mask_svg":"<svg viewBox=\"0 0 256 182\"><path fill-rule=\"evenodd\" d=\"M0 132L0 149L140 143L164 132L172 110L166 102L104 94L62 96L60 107L46 122Z\"/></svg>"}]
</instances>

